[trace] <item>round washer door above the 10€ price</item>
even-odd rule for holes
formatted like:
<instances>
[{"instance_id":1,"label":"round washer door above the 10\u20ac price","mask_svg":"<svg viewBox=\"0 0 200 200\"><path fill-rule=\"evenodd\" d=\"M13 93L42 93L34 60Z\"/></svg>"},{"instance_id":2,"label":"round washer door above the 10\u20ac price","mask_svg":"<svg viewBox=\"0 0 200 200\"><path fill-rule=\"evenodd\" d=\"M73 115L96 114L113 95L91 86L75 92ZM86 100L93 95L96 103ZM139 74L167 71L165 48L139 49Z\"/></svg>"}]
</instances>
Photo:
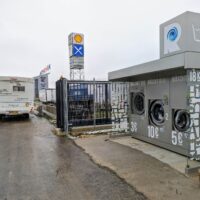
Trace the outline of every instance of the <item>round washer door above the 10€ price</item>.
<instances>
[{"instance_id":1,"label":"round washer door above the 10\u20ac price","mask_svg":"<svg viewBox=\"0 0 200 200\"><path fill-rule=\"evenodd\" d=\"M161 100L153 101L150 105L150 120L156 126L163 125L165 118L163 102Z\"/></svg>"}]
</instances>

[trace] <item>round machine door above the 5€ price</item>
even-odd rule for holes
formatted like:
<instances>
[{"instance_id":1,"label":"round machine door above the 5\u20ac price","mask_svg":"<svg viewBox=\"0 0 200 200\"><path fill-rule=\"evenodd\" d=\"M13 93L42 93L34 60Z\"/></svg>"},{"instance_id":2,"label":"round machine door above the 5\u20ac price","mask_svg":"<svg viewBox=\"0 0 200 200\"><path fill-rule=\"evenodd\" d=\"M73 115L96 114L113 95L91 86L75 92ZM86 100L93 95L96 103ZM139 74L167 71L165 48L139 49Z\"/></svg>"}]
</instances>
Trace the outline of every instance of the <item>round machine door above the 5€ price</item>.
<instances>
[{"instance_id":1,"label":"round machine door above the 5\u20ac price","mask_svg":"<svg viewBox=\"0 0 200 200\"><path fill-rule=\"evenodd\" d=\"M177 131L187 131L190 127L190 115L186 110L177 110L174 113L174 126Z\"/></svg>"}]
</instances>

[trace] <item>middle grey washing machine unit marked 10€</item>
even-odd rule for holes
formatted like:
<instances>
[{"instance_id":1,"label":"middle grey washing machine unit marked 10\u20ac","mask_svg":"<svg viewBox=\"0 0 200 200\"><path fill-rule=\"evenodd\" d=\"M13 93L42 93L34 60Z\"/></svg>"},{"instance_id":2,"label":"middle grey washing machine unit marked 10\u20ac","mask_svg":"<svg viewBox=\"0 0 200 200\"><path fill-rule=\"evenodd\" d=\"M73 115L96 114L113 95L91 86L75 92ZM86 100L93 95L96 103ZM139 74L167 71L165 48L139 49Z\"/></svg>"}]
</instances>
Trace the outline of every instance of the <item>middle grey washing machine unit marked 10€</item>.
<instances>
[{"instance_id":1,"label":"middle grey washing machine unit marked 10\u20ac","mask_svg":"<svg viewBox=\"0 0 200 200\"><path fill-rule=\"evenodd\" d=\"M148 109L148 125L146 139L148 142L159 146L165 146L169 140L172 119L169 105L170 80L158 78L147 80L146 98Z\"/></svg>"}]
</instances>

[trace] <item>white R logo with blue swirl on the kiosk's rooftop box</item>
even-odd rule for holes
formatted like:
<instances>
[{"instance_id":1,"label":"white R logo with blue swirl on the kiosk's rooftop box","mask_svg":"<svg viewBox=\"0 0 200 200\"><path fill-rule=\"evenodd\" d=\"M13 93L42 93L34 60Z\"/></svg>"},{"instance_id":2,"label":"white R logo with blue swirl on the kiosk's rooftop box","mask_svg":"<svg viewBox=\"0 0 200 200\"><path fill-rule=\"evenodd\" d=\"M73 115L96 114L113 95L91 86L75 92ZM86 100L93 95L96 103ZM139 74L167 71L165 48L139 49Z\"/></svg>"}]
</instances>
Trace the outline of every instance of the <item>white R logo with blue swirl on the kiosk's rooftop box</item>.
<instances>
[{"instance_id":1,"label":"white R logo with blue swirl on the kiosk's rooftop box","mask_svg":"<svg viewBox=\"0 0 200 200\"><path fill-rule=\"evenodd\" d=\"M179 51L178 41L181 37L181 26L173 23L164 28L164 54Z\"/></svg>"}]
</instances>

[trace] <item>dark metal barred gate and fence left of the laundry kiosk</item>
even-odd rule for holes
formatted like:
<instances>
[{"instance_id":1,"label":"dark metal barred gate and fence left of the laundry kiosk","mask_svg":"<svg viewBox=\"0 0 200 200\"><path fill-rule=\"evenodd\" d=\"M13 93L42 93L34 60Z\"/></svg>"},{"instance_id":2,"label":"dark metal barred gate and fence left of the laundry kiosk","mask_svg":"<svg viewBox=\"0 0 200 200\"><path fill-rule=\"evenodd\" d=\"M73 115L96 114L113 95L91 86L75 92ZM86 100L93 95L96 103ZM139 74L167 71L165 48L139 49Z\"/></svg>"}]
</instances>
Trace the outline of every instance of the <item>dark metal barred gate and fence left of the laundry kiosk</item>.
<instances>
[{"instance_id":1,"label":"dark metal barred gate and fence left of the laundry kiosk","mask_svg":"<svg viewBox=\"0 0 200 200\"><path fill-rule=\"evenodd\" d=\"M62 84L60 83L62 82ZM107 81L57 81L57 113L70 126L111 124L111 85ZM66 98L62 96L66 90ZM62 97L61 97L62 96ZM62 106L66 105L66 113ZM67 115L67 116L66 116ZM66 123L66 122L65 122ZM65 127L59 122L59 128ZM64 128L63 128L64 129Z\"/></svg>"}]
</instances>

